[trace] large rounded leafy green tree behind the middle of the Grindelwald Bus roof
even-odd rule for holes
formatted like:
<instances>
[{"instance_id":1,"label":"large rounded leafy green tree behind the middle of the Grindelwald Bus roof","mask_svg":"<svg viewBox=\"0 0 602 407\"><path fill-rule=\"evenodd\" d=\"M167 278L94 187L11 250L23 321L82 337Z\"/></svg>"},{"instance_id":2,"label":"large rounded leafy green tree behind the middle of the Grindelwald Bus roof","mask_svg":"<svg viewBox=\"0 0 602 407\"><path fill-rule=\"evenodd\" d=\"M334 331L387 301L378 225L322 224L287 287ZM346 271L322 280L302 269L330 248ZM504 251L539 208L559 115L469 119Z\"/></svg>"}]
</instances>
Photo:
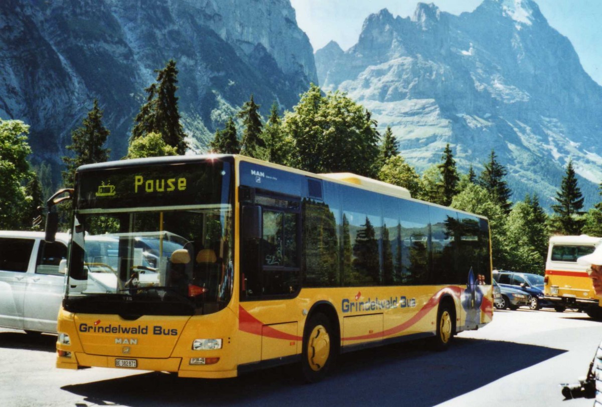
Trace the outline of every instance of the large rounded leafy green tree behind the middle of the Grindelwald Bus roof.
<instances>
[{"instance_id":1,"label":"large rounded leafy green tree behind the middle of the Grindelwald Bus roof","mask_svg":"<svg viewBox=\"0 0 602 407\"><path fill-rule=\"evenodd\" d=\"M314 173L376 176L378 133L370 112L345 93L323 97L314 84L293 110L285 114L282 125L294 142L288 165Z\"/></svg>"}]
</instances>

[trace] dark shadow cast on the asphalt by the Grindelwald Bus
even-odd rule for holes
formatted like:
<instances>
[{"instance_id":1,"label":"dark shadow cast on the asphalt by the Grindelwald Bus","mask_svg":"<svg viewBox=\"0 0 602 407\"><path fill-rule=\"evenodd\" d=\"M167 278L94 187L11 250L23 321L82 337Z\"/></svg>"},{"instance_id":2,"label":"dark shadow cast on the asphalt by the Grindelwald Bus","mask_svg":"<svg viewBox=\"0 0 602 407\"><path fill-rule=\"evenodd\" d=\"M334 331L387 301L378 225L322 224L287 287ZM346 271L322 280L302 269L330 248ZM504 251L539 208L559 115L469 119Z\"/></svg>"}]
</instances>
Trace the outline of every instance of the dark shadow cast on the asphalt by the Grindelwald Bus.
<instances>
[{"instance_id":1,"label":"dark shadow cast on the asphalt by the Grindelwald Bus","mask_svg":"<svg viewBox=\"0 0 602 407\"><path fill-rule=\"evenodd\" d=\"M166 373L64 386L98 405L406 405L433 406L566 350L455 338L447 352L402 343L345 353L324 381L302 384L297 366L235 379L184 379ZM78 405L80 405L78 403Z\"/></svg>"}]
</instances>

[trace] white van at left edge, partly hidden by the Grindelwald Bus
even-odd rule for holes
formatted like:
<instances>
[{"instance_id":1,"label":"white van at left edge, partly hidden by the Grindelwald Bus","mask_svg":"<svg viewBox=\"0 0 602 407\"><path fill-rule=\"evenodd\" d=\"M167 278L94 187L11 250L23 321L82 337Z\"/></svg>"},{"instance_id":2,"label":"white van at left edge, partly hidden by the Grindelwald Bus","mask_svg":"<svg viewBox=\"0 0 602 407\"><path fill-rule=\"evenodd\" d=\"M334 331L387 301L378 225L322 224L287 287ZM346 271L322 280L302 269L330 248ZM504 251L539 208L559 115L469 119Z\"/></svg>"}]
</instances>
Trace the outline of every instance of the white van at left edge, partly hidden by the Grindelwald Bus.
<instances>
[{"instance_id":1,"label":"white van at left edge, partly hidden by the Grindelwald Bus","mask_svg":"<svg viewBox=\"0 0 602 407\"><path fill-rule=\"evenodd\" d=\"M57 332L68 235L44 242L43 232L0 231L0 326Z\"/></svg>"}]
</instances>

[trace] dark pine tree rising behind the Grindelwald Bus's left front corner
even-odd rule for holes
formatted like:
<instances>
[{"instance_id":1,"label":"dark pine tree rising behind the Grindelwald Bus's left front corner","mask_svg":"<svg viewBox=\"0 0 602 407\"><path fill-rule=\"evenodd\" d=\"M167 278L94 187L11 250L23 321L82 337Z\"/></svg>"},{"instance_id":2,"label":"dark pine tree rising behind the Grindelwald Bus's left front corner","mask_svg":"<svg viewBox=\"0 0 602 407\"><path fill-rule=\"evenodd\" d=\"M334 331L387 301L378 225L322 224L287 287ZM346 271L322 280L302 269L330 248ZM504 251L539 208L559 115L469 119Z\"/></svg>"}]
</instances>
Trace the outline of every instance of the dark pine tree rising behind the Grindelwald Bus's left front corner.
<instances>
[{"instance_id":1,"label":"dark pine tree rising behind the Grindelwald Bus's left front corner","mask_svg":"<svg viewBox=\"0 0 602 407\"><path fill-rule=\"evenodd\" d=\"M110 131L102 124L103 111L98 107L98 99L82 121L82 127L71 133L72 144L67 150L73 151L73 157L63 157L67 170L63 171L64 185L72 188L75 183L75 170L84 164L94 164L108 160L111 150L102 146L107 142Z\"/></svg>"}]
</instances>

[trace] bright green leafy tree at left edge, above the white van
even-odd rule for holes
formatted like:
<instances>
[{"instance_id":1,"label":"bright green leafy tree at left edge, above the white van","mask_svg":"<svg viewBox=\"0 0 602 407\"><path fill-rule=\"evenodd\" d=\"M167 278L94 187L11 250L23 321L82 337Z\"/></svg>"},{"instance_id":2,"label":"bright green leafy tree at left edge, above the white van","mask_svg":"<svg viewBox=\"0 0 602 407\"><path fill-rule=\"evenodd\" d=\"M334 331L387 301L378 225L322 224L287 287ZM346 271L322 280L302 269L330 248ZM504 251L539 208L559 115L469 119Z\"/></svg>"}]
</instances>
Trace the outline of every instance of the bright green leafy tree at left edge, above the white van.
<instances>
[{"instance_id":1,"label":"bright green leafy tree at left edge, above the white van","mask_svg":"<svg viewBox=\"0 0 602 407\"><path fill-rule=\"evenodd\" d=\"M31 177L26 158L31 153L27 142L29 126L20 120L0 119L0 229L29 228L27 216L32 198L22 186Z\"/></svg>"}]
</instances>

